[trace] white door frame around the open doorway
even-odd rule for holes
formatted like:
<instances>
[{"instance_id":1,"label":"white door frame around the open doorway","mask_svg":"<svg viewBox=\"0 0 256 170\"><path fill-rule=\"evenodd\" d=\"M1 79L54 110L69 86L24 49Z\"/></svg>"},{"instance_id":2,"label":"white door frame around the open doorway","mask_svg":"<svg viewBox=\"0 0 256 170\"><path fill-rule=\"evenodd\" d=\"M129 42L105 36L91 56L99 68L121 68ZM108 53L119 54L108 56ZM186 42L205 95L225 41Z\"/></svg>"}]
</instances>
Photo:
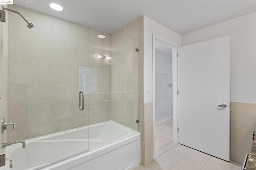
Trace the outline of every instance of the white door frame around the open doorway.
<instances>
[{"instance_id":1,"label":"white door frame around the open doorway","mask_svg":"<svg viewBox=\"0 0 256 170\"><path fill-rule=\"evenodd\" d=\"M156 122L156 49L155 44L156 41L159 41L166 45L166 47L169 47L172 49L172 121L173 121L173 141L177 142L178 139L178 120L177 120L177 109L178 109L178 95L177 95L177 89L178 89L178 60L177 60L177 54L178 54L178 47L179 45L176 43L173 43L171 41L168 41L166 39L163 39L155 34L152 34L152 53L153 53L153 158L155 160L155 122Z\"/></svg>"}]
</instances>

